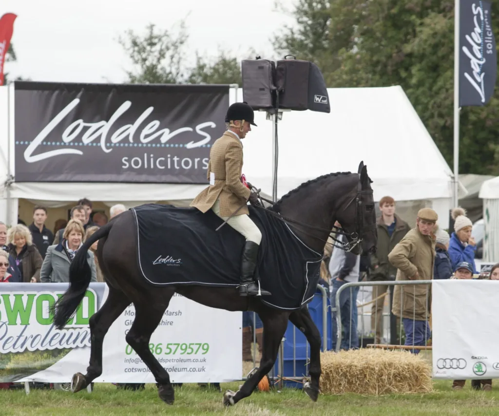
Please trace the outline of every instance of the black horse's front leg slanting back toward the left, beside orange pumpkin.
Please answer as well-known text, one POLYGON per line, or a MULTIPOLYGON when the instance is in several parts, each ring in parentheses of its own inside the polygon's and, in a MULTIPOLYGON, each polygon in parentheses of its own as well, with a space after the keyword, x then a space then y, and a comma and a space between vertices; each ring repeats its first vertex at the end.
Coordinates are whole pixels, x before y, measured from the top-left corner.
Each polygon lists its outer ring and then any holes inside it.
POLYGON ((265 309, 258 311, 263 323, 263 348, 260 367, 236 393, 228 390, 224 394, 224 405, 231 406, 250 396, 260 380, 272 369, 284 332, 286 332, 289 312, 265 309))

